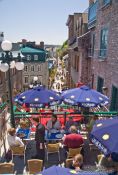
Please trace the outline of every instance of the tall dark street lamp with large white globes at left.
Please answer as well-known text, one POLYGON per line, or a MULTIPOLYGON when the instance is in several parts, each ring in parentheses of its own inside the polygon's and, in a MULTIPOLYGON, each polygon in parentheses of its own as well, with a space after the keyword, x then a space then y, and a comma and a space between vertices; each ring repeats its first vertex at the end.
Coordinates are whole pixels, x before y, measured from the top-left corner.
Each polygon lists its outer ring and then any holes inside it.
POLYGON ((12 56, 12 43, 10 41, 4 40, 1 44, 1 48, 4 51, 2 53, 2 57, 0 58, 0 70, 2 72, 8 71, 8 89, 9 89, 9 103, 10 103, 10 121, 12 127, 15 127, 15 118, 14 118, 14 111, 13 111, 13 102, 12 102, 12 84, 11 84, 11 72, 10 68, 16 68, 17 70, 24 69, 24 63, 21 62, 20 53, 18 54, 17 58, 13 58, 12 56), (14 60, 13 60, 14 59, 14 60), (15 59, 17 62, 15 62, 15 59))

